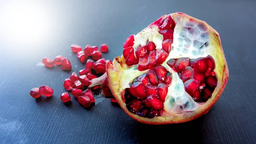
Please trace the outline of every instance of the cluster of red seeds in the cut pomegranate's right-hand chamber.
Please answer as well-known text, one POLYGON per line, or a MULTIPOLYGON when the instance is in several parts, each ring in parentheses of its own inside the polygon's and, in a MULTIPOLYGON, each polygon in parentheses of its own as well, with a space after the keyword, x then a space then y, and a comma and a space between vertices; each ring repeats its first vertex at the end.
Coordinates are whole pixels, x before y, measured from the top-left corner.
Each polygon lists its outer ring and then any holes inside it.
POLYGON ((208 55, 206 58, 170 59, 167 64, 173 68, 184 82, 185 91, 196 102, 205 102, 217 86, 215 61, 208 55))

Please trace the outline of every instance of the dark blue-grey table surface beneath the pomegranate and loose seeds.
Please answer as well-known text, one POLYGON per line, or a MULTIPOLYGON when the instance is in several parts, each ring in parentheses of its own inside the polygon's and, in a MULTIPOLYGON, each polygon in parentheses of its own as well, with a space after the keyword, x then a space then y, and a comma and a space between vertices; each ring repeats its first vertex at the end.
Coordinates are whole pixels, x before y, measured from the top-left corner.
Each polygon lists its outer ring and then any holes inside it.
POLYGON ((256 1, 73 0, 0 1, 0 143, 256 143, 256 1), (70 45, 107 43, 113 59, 128 35, 163 14, 184 12, 206 21, 221 36, 230 79, 214 107, 194 121, 146 125, 109 99, 84 109, 59 99, 70 72, 38 66, 64 55, 84 68, 70 45), (35 100, 32 87, 49 85, 52 98, 35 100))

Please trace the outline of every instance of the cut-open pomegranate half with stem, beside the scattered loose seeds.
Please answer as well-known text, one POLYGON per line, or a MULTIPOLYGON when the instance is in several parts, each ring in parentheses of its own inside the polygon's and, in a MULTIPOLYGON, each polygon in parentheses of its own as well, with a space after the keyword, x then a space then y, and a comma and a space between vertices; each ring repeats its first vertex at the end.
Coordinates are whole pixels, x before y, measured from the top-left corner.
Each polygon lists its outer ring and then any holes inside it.
POLYGON ((131 117, 175 124, 204 115, 228 80, 218 32, 184 13, 163 15, 123 45, 123 55, 88 86, 100 86, 131 117))

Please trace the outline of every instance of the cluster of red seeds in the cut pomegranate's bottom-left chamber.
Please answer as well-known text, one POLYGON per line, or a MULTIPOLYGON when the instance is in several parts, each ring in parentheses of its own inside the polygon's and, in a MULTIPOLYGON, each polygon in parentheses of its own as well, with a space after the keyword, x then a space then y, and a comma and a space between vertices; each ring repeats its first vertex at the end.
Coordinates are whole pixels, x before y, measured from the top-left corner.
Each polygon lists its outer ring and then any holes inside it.
POLYGON ((171 83, 172 74, 164 66, 148 70, 129 84, 131 88, 126 89, 126 107, 142 117, 160 116, 171 83))

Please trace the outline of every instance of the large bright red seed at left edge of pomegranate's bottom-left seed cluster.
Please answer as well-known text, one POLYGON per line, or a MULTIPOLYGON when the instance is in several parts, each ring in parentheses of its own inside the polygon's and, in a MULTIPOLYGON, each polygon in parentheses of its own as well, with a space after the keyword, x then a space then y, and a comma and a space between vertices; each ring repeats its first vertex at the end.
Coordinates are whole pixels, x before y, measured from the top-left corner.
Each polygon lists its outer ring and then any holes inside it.
POLYGON ((136 98, 143 99, 146 97, 145 86, 142 82, 135 82, 131 84, 131 88, 129 89, 131 95, 136 98))

